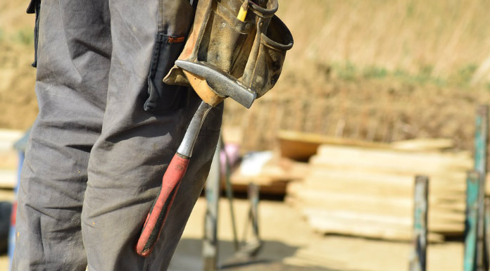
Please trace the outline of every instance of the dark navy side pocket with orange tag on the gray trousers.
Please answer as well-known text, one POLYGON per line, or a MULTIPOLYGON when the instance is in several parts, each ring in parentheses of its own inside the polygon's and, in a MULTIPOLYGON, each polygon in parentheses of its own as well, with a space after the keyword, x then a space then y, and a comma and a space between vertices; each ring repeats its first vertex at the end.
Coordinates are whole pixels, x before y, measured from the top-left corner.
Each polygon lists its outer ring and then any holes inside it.
POLYGON ((184 106, 185 87, 162 81, 182 51, 184 41, 184 35, 158 33, 148 75, 149 97, 144 103, 145 111, 173 111, 184 106))

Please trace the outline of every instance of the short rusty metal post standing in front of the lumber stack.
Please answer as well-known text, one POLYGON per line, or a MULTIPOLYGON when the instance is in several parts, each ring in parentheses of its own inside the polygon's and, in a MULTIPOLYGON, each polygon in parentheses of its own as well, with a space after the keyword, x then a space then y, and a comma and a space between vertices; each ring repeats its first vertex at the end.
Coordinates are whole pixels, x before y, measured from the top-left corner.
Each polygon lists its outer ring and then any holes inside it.
POLYGON ((413 244, 410 255, 410 271, 425 271, 427 263, 427 210, 429 196, 429 178, 415 177, 413 208, 413 244))

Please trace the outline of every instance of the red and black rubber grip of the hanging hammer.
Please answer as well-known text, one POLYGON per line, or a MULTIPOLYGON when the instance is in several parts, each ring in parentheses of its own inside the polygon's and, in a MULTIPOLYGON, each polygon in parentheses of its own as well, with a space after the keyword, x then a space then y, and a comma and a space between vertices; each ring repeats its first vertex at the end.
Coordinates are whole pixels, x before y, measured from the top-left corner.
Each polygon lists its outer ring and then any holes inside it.
POLYGON ((170 161, 162 178, 161 190, 151 206, 136 245, 136 253, 139 255, 147 257, 153 250, 188 165, 189 157, 179 153, 175 153, 170 161))

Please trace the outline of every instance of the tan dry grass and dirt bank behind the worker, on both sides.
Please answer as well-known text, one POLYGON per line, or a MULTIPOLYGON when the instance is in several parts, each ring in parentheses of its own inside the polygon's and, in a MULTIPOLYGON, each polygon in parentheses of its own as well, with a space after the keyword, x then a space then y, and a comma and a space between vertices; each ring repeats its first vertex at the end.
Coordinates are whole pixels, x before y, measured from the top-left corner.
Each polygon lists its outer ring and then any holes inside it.
MULTIPOLYGON (((0 127, 25 129, 37 113, 27 1, 0 0, 0 127)), ((490 3, 279 0, 295 45, 275 89, 225 125, 244 149, 277 130, 393 141, 448 137, 472 146, 478 103, 490 101, 490 3), (251 129, 253 128, 253 129, 251 129), (256 131, 260 132, 257 133, 256 131)))

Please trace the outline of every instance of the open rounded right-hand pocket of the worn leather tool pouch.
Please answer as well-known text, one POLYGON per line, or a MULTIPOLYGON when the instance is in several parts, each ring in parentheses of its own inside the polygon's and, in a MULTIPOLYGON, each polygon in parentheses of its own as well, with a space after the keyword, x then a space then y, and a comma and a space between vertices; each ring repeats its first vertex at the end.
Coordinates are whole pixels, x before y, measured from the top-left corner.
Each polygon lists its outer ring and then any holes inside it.
POLYGON ((286 51, 293 46, 293 36, 282 20, 273 16, 266 34, 261 34, 257 62, 251 72, 251 89, 257 98, 274 87, 282 71, 286 51))

